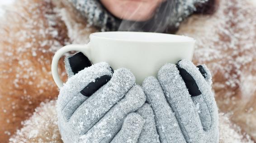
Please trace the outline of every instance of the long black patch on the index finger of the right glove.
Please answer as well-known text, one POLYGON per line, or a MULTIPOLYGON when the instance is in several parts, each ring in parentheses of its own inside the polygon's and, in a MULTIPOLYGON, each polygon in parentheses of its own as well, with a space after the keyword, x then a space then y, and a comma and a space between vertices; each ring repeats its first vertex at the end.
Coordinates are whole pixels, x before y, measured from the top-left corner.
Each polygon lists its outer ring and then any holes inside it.
POLYGON ((180 68, 179 62, 176 64, 178 70, 180 71, 180 76, 184 80, 186 87, 192 97, 199 96, 202 93, 200 92, 197 84, 195 83, 194 78, 183 68, 180 68))

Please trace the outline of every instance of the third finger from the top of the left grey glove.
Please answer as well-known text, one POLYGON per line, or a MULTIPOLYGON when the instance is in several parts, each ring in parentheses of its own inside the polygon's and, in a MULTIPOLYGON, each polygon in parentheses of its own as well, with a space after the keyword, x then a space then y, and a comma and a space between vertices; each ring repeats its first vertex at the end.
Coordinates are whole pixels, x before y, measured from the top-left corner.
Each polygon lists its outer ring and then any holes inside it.
POLYGON ((127 95, 111 108, 85 135, 84 143, 108 143, 118 133, 128 113, 136 111, 146 101, 145 94, 139 86, 134 86, 127 95))

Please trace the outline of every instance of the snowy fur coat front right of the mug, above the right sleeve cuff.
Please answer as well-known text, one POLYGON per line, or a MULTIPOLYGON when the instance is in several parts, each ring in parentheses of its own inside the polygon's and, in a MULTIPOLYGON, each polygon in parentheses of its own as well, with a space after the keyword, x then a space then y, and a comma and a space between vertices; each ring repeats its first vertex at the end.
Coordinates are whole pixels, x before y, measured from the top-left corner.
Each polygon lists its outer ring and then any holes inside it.
POLYGON ((256 140, 256 5, 251 0, 219 0, 213 15, 194 15, 178 34, 197 43, 194 63, 213 74, 218 107, 256 140))

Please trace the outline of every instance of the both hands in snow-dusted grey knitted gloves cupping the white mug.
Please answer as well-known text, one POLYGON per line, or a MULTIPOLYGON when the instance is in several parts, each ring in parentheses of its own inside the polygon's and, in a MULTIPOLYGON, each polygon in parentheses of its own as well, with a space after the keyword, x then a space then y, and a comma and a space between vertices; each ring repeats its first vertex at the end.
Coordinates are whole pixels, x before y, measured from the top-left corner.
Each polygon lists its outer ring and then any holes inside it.
POLYGON ((218 143, 218 110, 206 66, 166 64, 142 88, 128 69, 67 57, 57 101, 64 143, 218 143), (77 60, 77 59, 76 59, 77 60), (78 70, 82 69, 78 72, 78 70), (146 103, 145 103, 146 101, 146 103))

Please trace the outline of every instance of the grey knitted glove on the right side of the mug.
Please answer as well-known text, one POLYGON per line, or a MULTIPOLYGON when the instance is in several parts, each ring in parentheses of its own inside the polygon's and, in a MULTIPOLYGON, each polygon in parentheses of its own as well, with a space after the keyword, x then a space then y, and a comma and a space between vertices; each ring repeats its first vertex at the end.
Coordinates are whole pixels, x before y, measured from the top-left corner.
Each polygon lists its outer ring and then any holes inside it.
POLYGON ((187 60, 177 67, 166 64, 158 73, 159 82, 149 77, 142 83, 161 143, 218 143, 218 109, 209 70, 187 60))

